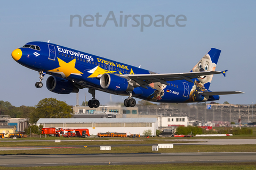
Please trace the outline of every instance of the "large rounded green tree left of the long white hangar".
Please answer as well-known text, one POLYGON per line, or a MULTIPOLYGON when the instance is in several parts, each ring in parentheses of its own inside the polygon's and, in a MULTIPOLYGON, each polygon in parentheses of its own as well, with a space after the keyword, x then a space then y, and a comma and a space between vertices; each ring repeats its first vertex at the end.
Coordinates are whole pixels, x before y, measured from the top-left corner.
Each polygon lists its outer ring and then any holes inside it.
POLYGON ((71 106, 65 101, 55 98, 44 98, 35 105, 35 110, 30 114, 29 122, 34 124, 39 118, 69 118, 72 117, 71 106))

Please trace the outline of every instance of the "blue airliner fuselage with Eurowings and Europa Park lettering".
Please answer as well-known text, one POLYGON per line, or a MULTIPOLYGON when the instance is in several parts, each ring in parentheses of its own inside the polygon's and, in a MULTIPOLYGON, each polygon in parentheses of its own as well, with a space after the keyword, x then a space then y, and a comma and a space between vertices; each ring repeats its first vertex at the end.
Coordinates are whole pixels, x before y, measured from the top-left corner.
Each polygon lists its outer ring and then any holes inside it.
MULTIPOLYGON (((128 95, 126 91, 113 91, 102 88, 99 75, 104 73, 153 74, 153 72, 140 69, 139 67, 51 43, 35 41, 26 45, 27 48, 19 48, 22 51, 22 56, 17 60, 19 64, 29 69, 43 71, 54 77, 76 83, 80 89, 89 88, 115 95, 128 95), (34 45, 35 49, 29 48, 28 45, 34 45)), ((147 89, 135 87, 132 91, 132 96, 162 103, 219 100, 219 96, 208 96, 205 98, 205 96, 199 94, 196 98, 191 99, 191 89, 195 86, 194 81, 195 79, 193 79, 193 82, 186 80, 167 81, 168 85, 165 87, 158 86, 154 88, 154 84, 151 84, 147 89)))

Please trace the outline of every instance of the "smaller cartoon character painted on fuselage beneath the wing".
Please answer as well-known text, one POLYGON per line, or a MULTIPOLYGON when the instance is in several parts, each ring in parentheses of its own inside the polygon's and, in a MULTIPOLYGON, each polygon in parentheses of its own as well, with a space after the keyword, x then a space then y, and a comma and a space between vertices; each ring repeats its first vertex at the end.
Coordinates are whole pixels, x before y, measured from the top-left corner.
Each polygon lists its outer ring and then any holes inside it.
POLYGON ((150 101, 159 101, 159 100, 161 100, 162 97, 164 96, 164 89, 166 88, 166 85, 162 84, 160 82, 156 82, 156 83, 149 84, 149 86, 153 89, 156 89, 156 90, 153 92, 153 94, 149 95, 147 97, 147 99, 150 100, 150 101))

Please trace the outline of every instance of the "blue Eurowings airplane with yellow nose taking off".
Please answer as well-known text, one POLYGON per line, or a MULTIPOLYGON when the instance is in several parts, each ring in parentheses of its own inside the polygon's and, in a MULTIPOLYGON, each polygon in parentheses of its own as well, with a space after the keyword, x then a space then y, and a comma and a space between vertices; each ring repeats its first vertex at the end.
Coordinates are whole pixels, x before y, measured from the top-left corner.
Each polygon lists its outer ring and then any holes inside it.
MULTIPOLYGON (((50 41, 50 40, 49 40, 50 41)), ((12 52, 12 58, 29 69, 38 71, 42 88, 44 75, 46 88, 57 94, 70 94, 88 88, 92 99, 90 108, 97 108, 95 90, 109 94, 129 96, 124 106, 134 107, 139 98, 159 103, 194 103, 219 100, 219 95, 242 94, 241 91, 210 91, 210 83, 221 50, 211 48, 203 58, 185 73, 159 74, 107 58, 84 53, 57 44, 40 41, 29 42, 12 52), (134 97, 134 98, 133 98, 134 97)))

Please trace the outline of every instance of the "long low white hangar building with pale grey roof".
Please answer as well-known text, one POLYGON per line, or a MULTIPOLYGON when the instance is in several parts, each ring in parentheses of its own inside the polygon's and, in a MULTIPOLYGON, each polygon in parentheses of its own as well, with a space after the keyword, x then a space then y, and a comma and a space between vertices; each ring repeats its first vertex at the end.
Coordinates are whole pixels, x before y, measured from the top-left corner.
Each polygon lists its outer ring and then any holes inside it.
POLYGON ((89 133, 97 135, 99 132, 119 132, 130 134, 143 134, 151 130, 156 135, 158 129, 157 118, 39 118, 37 126, 44 128, 87 128, 89 133))

